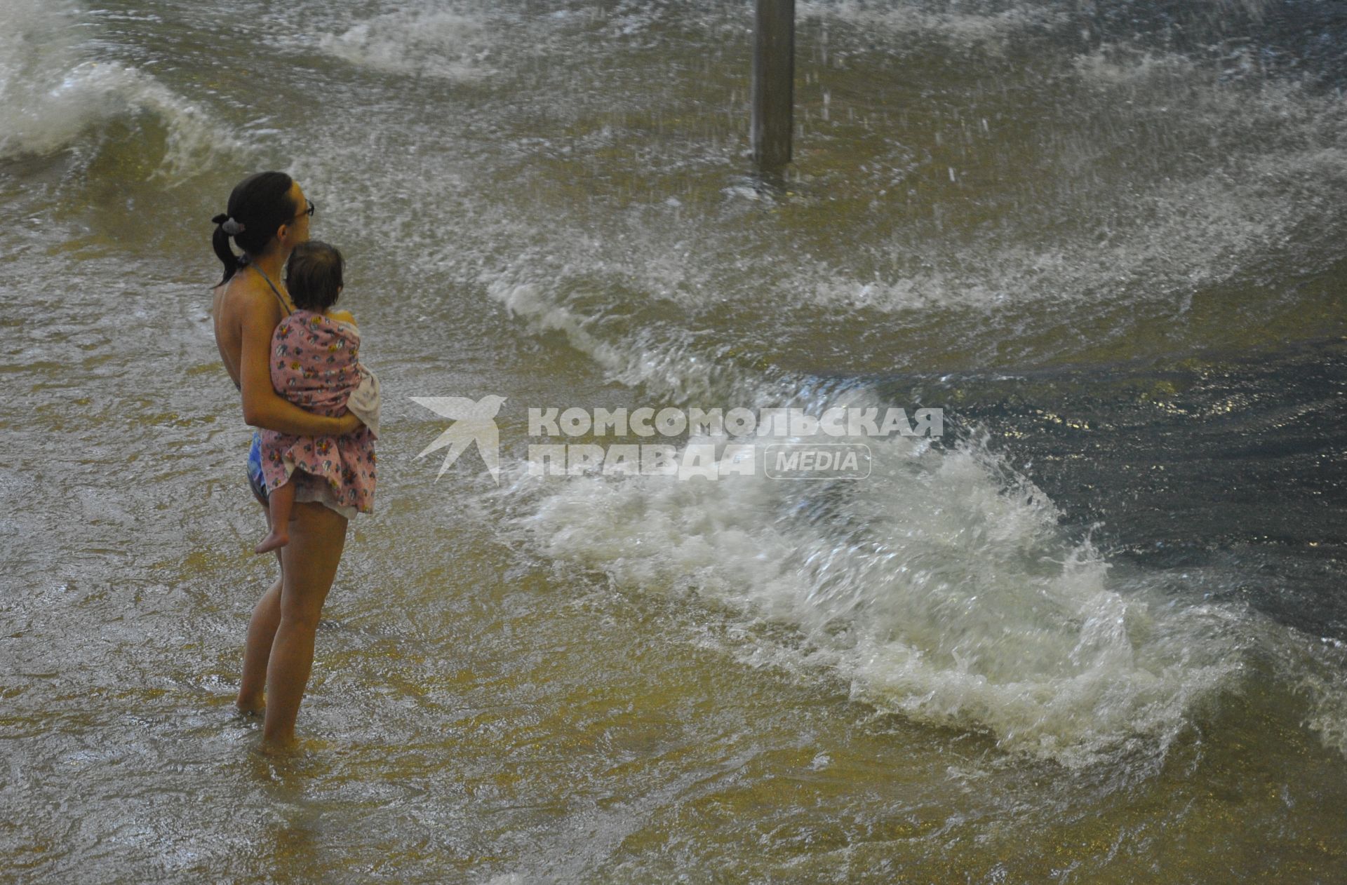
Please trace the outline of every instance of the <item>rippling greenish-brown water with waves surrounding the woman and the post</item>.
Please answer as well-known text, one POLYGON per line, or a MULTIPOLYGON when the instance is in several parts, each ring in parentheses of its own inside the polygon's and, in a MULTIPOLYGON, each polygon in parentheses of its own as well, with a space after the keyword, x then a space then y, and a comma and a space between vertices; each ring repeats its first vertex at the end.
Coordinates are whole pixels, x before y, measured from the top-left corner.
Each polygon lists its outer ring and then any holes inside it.
POLYGON ((19 881, 1237 881, 1347 869, 1347 19, 9 3, 19 881), (384 381, 306 735, 210 216, 318 203, 384 381), (501 484, 412 396, 506 396, 501 484), (857 484, 527 476, 527 407, 939 405, 857 484))

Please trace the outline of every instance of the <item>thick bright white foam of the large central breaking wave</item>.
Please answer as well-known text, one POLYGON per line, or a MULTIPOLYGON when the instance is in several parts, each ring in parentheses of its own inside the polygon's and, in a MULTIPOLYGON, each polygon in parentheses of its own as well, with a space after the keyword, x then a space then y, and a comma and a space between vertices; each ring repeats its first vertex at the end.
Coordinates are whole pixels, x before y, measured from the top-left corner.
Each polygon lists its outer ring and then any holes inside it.
POLYGON ((985 449, 873 445, 876 474, 845 488, 572 477, 511 493, 541 490, 521 525, 559 560, 692 589, 806 640, 758 637, 745 663, 823 665, 857 698, 1009 750, 1162 756, 1241 671, 1238 613, 1110 587, 1107 563, 1059 536, 1041 492, 1004 486, 985 449))

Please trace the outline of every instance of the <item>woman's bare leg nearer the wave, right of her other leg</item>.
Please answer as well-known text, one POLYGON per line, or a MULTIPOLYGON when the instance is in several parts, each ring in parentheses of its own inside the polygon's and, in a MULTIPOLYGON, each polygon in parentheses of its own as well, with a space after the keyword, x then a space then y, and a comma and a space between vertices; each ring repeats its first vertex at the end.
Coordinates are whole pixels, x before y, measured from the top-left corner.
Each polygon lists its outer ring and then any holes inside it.
POLYGON ((284 564, 280 624, 267 664, 267 721, 263 742, 286 746, 295 740, 295 718, 314 663, 314 634, 327 591, 346 544, 346 517, 314 502, 295 504, 284 564))

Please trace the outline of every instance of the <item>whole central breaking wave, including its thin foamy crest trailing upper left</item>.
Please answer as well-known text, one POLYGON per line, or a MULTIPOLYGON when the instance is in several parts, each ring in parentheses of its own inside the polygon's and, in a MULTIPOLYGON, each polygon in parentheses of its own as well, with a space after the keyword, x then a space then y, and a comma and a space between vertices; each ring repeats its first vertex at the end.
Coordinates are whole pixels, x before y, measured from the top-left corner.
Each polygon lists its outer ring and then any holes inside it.
MULTIPOLYGON (((735 365, 684 329, 614 334, 605 308, 586 311, 563 286, 501 276, 488 291, 535 333, 566 335, 643 404, 908 405, 861 379, 735 365)), ((723 455, 727 440, 688 442, 723 455)), ((1303 695, 1304 727, 1347 753, 1347 655, 1203 591, 1235 577, 1118 572, 1060 528, 1055 504, 977 430, 954 445, 853 442, 874 453, 865 481, 550 480, 515 463, 501 494, 527 542, 555 560, 788 628, 784 638, 741 630, 730 652, 742 663, 822 668, 857 700, 987 733, 1012 754, 1068 768, 1126 757, 1156 771, 1265 660, 1274 684, 1303 695)))

